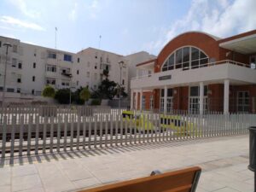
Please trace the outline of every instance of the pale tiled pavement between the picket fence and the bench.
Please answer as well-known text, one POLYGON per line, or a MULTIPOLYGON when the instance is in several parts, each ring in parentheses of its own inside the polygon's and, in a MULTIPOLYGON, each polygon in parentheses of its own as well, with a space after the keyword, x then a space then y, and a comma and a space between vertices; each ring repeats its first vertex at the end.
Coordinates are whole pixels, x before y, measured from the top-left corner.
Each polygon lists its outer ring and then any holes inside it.
POLYGON ((248 137, 220 137, 1 160, 0 191, 75 191, 102 183, 201 166, 197 192, 252 192, 248 137))

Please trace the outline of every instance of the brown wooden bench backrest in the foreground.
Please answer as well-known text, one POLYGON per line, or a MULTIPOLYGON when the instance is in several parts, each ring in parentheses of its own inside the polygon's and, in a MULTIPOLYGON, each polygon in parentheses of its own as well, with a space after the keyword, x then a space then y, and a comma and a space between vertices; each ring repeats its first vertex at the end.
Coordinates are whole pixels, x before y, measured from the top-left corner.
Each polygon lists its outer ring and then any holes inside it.
POLYGON ((80 192, 195 192, 200 174, 201 168, 195 166, 80 192))

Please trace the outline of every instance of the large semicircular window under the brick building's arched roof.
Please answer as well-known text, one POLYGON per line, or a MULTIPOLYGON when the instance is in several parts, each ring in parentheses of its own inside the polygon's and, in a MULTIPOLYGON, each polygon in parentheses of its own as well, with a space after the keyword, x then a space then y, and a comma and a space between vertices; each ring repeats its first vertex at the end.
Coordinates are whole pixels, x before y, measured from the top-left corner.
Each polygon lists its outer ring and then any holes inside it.
POLYGON ((205 64, 208 62, 209 57, 201 49, 187 46, 172 52, 163 65, 162 72, 176 68, 187 70, 190 68, 206 67, 205 64))

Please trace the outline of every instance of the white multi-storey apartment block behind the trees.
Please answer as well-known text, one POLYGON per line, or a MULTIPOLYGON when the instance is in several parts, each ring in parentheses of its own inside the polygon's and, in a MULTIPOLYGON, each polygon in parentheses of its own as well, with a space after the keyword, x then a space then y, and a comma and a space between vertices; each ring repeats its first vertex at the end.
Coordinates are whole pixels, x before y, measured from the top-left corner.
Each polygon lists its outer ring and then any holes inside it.
POLYGON ((12 45, 7 56, 6 102, 44 100, 41 93, 46 84, 56 90, 76 90, 80 86, 96 90, 106 78, 106 72, 108 79, 122 84, 128 92, 129 65, 131 62, 138 63, 137 59, 129 61, 124 55, 102 49, 87 48, 71 53, 0 36, 0 101, 6 61, 5 43, 12 45), (119 61, 124 63, 120 66, 119 61))

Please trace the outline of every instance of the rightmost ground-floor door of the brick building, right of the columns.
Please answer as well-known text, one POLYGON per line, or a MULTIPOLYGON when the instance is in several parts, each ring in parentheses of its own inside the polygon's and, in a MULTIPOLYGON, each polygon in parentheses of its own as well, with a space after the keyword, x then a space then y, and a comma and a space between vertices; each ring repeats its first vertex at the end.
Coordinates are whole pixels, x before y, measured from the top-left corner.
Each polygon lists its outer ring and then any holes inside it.
POLYGON ((249 112, 249 92, 248 91, 237 92, 237 112, 240 112, 240 113, 249 112))

